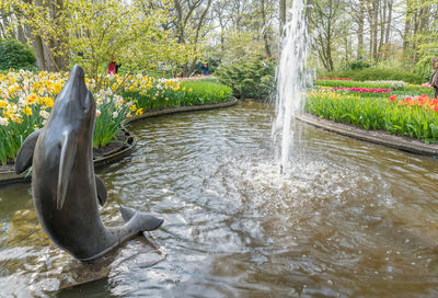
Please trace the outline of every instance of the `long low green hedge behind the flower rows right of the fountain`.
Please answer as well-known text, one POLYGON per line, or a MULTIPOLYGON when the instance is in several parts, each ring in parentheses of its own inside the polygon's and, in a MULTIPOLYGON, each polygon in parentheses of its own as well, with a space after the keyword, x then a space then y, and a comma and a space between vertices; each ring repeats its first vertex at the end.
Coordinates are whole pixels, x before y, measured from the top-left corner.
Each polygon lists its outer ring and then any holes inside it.
POLYGON ((334 72, 320 72, 319 77, 350 78, 356 81, 394 80, 394 81, 404 81, 417 84, 425 82, 422 76, 414 72, 400 71, 395 69, 377 69, 377 68, 367 68, 361 70, 343 70, 334 72))

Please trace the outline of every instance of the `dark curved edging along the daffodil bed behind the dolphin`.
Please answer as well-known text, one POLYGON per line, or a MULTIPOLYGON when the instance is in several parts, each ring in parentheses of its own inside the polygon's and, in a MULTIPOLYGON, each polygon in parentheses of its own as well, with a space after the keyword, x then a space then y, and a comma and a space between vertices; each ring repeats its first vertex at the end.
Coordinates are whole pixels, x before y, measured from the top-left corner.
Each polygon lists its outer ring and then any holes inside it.
MULTIPOLYGON (((201 111, 201 110, 211 110, 211 108, 219 108, 219 107, 227 107, 238 103, 237 99, 232 99, 230 101, 217 103, 217 104, 205 104, 205 105, 187 105, 187 106, 172 106, 165 108, 158 108, 146 112, 139 116, 135 116, 129 118, 125 122, 125 124, 129 124, 132 122, 137 122, 147 117, 166 115, 166 114, 174 114, 174 113, 182 113, 182 112, 193 112, 193 111, 201 111)), ((124 134, 128 134, 128 146, 124 146, 122 150, 116 150, 114 152, 108 152, 106 156, 96 158, 93 160, 94 168, 100 168, 105 164, 113 163, 122 158, 128 156, 137 145, 137 137, 127 129, 123 130, 124 134)), ((0 185, 16 183, 16 182, 26 182, 31 181, 31 175, 27 173, 23 173, 21 175, 16 175, 14 170, 11 167, 11 170, 0 171, 0 185)))

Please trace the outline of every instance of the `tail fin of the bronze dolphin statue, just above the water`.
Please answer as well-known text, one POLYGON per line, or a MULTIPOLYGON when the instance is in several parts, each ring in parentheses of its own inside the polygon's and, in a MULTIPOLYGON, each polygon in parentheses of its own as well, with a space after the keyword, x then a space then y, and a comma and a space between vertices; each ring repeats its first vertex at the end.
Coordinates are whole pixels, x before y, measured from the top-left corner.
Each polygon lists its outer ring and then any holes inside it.
POLYGON ((141 231, 152 231, 163 225, 164 219, 154 217, 153 215, 136 211, 135 209, 120 206, 120 214, 125 222, 131 228, 141 231))

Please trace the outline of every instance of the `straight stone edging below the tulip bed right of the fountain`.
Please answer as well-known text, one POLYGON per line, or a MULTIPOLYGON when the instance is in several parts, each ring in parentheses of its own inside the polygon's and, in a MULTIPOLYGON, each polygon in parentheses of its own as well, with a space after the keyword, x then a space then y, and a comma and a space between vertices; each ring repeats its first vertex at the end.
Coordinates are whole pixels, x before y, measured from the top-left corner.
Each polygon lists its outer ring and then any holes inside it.
POLYGON ((425 144, 417 139, 389 135, 384 130, 366 130, 351 125, 336 123, 330 119, 321 118, 311 114, 300 114, 296 118, 303 123, 311 124, 319 128, 336 133, 343 136, 365 140, 399 150, 438 158, 438 145, 425 144))

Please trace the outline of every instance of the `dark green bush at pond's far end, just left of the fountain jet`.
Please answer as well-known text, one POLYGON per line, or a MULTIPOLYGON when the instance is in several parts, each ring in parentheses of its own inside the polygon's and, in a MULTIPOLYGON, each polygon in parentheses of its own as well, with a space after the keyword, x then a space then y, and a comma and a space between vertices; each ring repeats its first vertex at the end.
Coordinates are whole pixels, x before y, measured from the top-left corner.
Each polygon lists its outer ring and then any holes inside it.
POLYGON ((275 60, 257 56, 221 66, 216 76, 241 99, 268 100, 275 87, 275 60))

